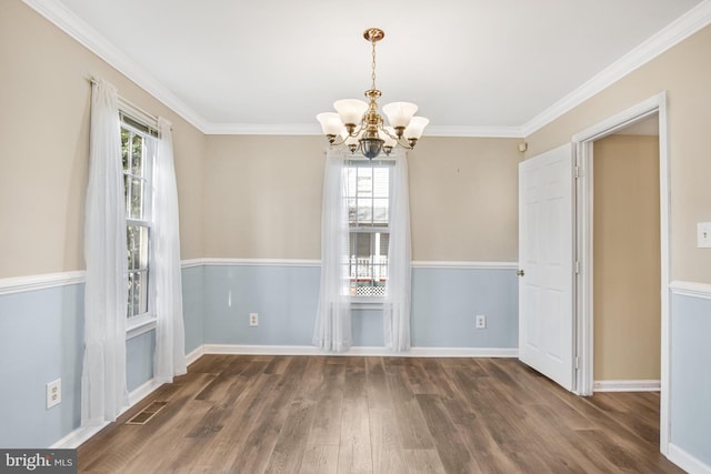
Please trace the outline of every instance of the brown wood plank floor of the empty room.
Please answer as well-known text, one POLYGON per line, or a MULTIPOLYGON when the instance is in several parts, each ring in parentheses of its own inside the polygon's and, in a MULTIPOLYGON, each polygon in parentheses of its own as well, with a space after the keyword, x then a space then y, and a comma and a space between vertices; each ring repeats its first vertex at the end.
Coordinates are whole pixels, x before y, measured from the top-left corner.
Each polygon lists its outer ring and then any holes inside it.
POLYGON ((512 359, 204 355, 78 456, 84 473, 682 472, 658 438, 658 394, 579 397, 512 359))

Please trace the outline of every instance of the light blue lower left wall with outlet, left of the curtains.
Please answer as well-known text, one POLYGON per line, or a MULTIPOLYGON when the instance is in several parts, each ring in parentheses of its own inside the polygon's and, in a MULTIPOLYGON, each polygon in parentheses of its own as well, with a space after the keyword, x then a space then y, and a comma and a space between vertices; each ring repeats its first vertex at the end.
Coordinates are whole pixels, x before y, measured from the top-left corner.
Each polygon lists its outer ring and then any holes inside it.
POLYGON ((79 426, 83 284, 0 295, 0 446, 51 445, 79 426), (46 384, 61 379, 61 404, 46 384))

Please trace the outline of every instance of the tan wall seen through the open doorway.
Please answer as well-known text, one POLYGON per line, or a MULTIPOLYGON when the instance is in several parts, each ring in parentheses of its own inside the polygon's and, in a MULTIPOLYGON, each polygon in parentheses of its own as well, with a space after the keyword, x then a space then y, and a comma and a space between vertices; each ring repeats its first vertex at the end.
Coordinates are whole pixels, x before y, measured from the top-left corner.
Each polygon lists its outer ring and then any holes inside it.
POLYGON ((594 380, 659 380, 659 139, 594 143, 594 380))

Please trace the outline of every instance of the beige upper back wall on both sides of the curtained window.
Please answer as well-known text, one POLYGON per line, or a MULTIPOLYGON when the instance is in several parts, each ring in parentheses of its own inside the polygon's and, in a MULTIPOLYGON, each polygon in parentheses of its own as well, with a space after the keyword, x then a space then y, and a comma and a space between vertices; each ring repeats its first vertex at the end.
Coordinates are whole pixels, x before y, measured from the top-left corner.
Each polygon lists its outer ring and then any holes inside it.
MULTIPOLYGON (((519 140, 424 138, 410 152, 412 258, 518 255, 519 140)), ((208 137, 206 256, 320 259, 326 140, 208 137)))

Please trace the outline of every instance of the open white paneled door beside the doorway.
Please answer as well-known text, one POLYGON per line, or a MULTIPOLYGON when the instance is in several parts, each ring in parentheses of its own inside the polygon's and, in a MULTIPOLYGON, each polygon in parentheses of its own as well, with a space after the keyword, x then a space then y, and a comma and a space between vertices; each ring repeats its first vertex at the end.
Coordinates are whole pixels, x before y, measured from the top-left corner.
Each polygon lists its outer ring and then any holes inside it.
POLYGON ((519 359, 573 390, 573 153, 519 164, 519 359))

